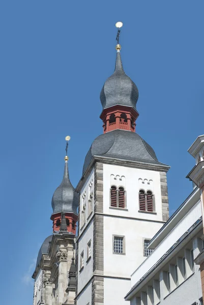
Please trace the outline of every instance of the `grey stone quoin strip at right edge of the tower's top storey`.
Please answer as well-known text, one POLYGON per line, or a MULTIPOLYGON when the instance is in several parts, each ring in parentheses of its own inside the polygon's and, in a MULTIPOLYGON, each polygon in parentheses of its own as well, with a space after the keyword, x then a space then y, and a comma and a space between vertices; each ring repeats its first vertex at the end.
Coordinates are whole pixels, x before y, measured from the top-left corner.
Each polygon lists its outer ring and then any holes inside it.
POLYGON ((166 172, 160 172, 160 184, 161 184, 162 220, 167 221, 169 219, 169 207, 168 207, 168 189, 167 189, 166 172))

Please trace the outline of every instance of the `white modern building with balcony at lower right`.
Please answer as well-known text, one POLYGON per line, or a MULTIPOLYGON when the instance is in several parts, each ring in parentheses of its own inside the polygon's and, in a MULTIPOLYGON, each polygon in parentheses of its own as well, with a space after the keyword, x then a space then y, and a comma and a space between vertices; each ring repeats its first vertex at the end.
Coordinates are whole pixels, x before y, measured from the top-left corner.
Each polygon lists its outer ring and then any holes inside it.
POLYGON ((200 271, 193 261, 203 246, 198 198, 196 189, 153 238, 150 246, 158 245, 131 276, 126 295, 131 305, 201 304, 200 271))

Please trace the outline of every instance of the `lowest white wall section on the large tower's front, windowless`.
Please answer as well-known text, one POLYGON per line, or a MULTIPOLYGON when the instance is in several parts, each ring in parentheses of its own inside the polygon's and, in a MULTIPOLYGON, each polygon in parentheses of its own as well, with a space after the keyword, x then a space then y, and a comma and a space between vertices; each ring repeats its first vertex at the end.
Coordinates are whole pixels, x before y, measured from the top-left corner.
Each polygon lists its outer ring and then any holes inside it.
POLYGON ((129 305, 124 296, 130 290, 131 285, 128 280, 104 279, 104 304, 108 305, 129 305))

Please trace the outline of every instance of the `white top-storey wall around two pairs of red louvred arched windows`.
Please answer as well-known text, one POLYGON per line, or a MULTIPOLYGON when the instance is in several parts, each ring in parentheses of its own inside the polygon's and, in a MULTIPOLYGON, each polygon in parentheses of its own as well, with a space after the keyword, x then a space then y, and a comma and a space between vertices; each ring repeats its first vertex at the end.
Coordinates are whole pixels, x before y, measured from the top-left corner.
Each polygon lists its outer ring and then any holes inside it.
POLYGON ((161 185, 160 173, 153 170, 130 168, 118 165, 103 165, 103 212, 104 214, 135 217, 140 219, 149 219, 162 221, 162 202, 161 202, 161 185), (112 175, 112 176, 111 176, 112 175), (118 177, 114 180, 113 175, 118 177), (113 182, 112 182, 113 181, 113 182), (144 182, 144 183, 142 183, 144 182), (148 184, 148 182, 150 184, 148 184), (127 197, 127 211, 121 209, 109 208, 110 205, 110 186, 124 186, 127 197), (153 191, 155 197, 156 215, 151 213, 138 212, 140 189, 153 191))

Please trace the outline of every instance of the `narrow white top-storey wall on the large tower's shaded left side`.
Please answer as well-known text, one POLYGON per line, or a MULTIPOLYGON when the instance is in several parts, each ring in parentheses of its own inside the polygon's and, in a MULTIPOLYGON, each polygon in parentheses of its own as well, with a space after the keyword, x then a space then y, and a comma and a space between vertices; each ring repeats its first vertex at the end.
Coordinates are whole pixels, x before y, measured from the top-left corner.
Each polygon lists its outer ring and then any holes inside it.
MULTIPOLYGON (((80 193, 80 228, 81 228, 81 211, 82 211, 82 208, 83 208, 83 204, 85 203, 85 224, 88 222, 88 218, 89 218, 89 215, 88 215, 88 200, 89 200, 89 197, 90 197, 90 183, 92 182, 92 190, 93 190, 93 203, 94 203, 94 168, 92 170, 92 172, 90 173, 89 177, 86 179, 86 182, 83 186, 83 188, 81 189, 81 193, 80 193), (83 196, 85 194, 85 199, 83 200, 83 196)), ((94 204, 93 204, 94 206, 94 204)), ((92 207, 93 207, 92 206, 92 207)), ((92 208, 93 210, 93 208, 92 208)), ((83 228, 85 227, 85 225, 83 226, 83 228)), ((83 229, 81 230, 81 232, 83 231, 83 229)), ((80 232, 80 233, 81 233, 80 232)))

